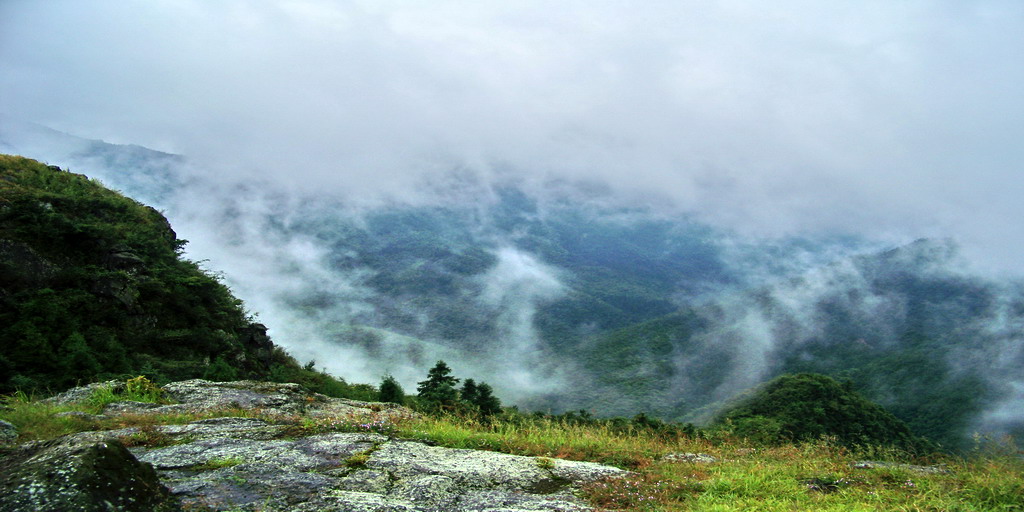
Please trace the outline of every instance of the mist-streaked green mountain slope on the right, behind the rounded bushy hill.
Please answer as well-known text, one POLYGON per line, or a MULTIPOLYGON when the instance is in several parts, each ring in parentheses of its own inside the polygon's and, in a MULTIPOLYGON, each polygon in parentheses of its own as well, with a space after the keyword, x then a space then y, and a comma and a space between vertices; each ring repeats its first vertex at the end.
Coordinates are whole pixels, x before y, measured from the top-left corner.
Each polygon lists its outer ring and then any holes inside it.
MULTIPOLYGON (((1002 326, 1020 322, 1024 296, 954 271, 954 254, 948 243, 919 241, 615 331, 589 368, 620 394, 595 399, 701 422, 741 386, 824 373, 914 432, 962 445, 1013 396, 1019 332, 1002 326)), ((1020 432, 1021 423, 1002 427, 1020 432)))

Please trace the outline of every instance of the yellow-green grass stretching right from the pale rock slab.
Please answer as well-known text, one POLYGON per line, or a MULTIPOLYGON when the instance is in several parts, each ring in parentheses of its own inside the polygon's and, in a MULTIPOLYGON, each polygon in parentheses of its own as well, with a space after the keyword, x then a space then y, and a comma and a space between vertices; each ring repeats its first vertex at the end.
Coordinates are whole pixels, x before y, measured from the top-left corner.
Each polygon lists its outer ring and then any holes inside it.
POLYGON ((993 443, 994 450, 963 458, 938 455, 922 460, 893 449, 848 449, 828 439, 754 446, 728 437, 665 437, 643 429, 623 432, 535 418, 484 424, 428 417, 399 422, 396 431, 452 447, 593 461, 632 470, 630 477, 585 488, 584 496, 600 509, 1024 510, 1024 458, 1012 442, 993 443), (678 452, 709 454, 719 462, 662 461, 678 452), (942 463, 949 472, 854 468, 852 463, 860 460, 942 463))

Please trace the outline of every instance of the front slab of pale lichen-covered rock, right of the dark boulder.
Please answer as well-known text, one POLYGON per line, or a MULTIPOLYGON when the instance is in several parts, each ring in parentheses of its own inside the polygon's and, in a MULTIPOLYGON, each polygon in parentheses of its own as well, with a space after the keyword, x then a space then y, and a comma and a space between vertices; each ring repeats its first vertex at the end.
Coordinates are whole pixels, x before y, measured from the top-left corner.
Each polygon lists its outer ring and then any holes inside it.
POLYGON ((373 432, 291 437, 287 428, 244 418, 159 433, 172 444, 132 450, 185 507, 578 511, 589 510, 572 494, 579 485, 624 474, 599 464, 446 449, 373 432))

